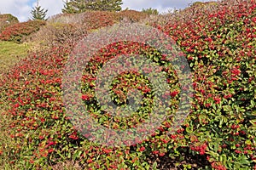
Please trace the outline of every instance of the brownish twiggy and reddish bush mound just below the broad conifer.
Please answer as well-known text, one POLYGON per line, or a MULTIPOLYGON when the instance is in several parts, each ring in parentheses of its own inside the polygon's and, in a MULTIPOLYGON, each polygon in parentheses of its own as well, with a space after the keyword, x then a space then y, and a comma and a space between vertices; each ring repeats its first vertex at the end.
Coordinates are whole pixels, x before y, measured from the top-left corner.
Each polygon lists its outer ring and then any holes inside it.
POLYGON ((81 14, 57 14, 49 19, 46 26, 32 34, 32 41, 43 42, 47 45, 56 43, 76 42, 77 38, 85 36, 88 32, 113 24, 124 19, 133 22, 143 20, 148 14, 127 10, 120 13, 89 11, 81 14))

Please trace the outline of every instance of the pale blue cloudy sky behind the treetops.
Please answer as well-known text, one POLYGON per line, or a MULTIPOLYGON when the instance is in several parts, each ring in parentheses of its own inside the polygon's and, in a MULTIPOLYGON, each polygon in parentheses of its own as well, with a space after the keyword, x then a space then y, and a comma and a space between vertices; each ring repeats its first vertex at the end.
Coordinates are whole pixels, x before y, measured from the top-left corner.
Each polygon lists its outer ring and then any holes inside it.
MULTIPOLYGON (((167 12, 173 8, 186 8, 189 3, 207 2, 209 0, 123 0, 122 8, 142 10, 143 8, 156 8, 160 12, 167 12)), ((63 0, 40 0, 40 6, 48 9, 48 17, 60 14, 63 8, 63 0)), ((13 14, 20 20, 26 21, 31 18, 32 7, 36 0, 0 0, 0 14, 13 14)))

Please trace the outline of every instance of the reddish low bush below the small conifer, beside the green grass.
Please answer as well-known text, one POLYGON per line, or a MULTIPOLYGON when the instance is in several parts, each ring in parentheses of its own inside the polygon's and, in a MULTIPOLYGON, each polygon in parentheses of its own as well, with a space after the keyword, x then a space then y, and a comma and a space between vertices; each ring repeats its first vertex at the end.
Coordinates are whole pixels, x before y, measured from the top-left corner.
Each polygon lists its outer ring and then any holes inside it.
POLYGON ((32 32, 38 31, 41 26, 45 25, 45 21, 29 20, 20 22, 11 26, 7 26, 0 33, 0 40, 21 42, 23 37, 26 37, 32 32))

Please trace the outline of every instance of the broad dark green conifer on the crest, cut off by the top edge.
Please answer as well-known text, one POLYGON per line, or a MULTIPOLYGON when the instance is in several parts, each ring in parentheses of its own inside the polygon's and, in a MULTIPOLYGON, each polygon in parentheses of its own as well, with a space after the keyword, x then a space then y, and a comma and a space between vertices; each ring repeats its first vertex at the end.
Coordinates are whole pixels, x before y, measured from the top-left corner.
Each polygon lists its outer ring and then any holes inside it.
POLYGON ((122 0, 69 0, 64 2, 62 13, 76 14, 90 10, 120 11, 122 0))

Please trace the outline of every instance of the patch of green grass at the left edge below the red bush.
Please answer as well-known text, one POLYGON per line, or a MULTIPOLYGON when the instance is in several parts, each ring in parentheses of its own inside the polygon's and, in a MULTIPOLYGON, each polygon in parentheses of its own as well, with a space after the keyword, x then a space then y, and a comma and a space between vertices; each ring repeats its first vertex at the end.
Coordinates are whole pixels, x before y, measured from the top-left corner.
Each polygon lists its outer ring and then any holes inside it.
POLYGON ((0 70, 8 71, 20 59, 26 57, 30 44, 0 41, 0 70))

